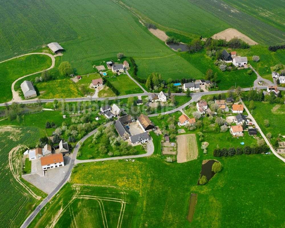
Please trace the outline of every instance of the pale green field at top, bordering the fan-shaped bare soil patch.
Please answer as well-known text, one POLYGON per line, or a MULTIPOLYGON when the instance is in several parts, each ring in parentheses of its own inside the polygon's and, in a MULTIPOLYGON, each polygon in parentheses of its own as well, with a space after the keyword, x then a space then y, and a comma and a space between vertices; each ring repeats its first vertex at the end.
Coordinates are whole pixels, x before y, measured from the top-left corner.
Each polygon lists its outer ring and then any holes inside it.
POLYGON ((128 0, 123 2, 139 11, 146 21, 161 25, 164 31, 182 31, 199 37, 201 35, 209 37, 229 28, 229 25, 222 19, 186 0, 169 2, 128 0))

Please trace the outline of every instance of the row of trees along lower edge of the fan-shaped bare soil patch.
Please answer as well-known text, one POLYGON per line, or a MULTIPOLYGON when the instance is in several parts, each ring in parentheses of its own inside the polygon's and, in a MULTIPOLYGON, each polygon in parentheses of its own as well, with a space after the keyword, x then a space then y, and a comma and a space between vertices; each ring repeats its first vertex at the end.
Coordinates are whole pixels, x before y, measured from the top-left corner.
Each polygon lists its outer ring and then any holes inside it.
POLYGON ((217 50, 218 47, 229 47, 229 48, 240 48, 246 49, 249 48, 249 44, 245 41, 239 39, 238 37, 234 37, 233 39, 227 41, 226 39, 212 39, 208 38, 205 41, 205 46, 208 47, 210 50, 217 50))

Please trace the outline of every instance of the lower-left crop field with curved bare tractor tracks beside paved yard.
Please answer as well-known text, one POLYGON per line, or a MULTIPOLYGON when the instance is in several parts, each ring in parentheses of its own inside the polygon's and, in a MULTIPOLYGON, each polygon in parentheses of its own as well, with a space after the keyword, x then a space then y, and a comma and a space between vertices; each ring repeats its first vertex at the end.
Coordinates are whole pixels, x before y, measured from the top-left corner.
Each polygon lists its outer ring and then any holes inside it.
POLYGON ((1 126, 0 131, 0 227, 20 227, 34 205, 38 205, 46 195, 21 178, 21 156, 18 150, 11 153, 11 160, 8 159, 9 152, 20 145, 35 146, 34 139, 39 137, 40 132, 35 127, 18 126, 1 126), (9 166, 10 162, 13 170, 9 166), (35 198, 37 196, 38 199, 35 198))

